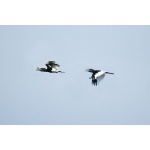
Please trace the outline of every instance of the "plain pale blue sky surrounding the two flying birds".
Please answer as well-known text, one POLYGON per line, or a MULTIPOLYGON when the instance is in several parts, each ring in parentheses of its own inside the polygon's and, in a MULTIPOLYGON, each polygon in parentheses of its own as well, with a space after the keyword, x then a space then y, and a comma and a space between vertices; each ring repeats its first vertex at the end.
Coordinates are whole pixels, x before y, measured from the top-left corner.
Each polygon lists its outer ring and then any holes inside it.
POLYGON ((0 26, 0 52, 0 124, 150 124, 150 26, 0 26))

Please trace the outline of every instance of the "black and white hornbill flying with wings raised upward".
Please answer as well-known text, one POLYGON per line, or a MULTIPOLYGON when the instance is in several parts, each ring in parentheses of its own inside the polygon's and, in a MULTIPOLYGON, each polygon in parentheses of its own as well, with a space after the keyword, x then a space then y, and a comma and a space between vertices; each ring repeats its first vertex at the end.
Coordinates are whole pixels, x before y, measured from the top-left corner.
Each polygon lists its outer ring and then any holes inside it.
POLYGON ((64 73, 64 72, 58 70, 60 65, 56 64, 55 61, 48 61, 45 65, 47 66, 47 68, 37 67, 36 71, 49 72, 49 73, 59 73, 59 72, 64 73))

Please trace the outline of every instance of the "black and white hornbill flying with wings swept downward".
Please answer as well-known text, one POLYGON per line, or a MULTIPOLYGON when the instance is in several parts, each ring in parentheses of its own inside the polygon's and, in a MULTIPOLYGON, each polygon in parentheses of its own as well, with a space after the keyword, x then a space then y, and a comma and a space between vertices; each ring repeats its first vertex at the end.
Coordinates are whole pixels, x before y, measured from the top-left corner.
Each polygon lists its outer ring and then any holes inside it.
POLYGON ((94 86, 95 85, 97 86, 98 82, 100 82, 105 77, 105 74, 114 74, 103 70, 94 70, 94 69, 87 69, 85 71, 92 73, 92 76, 89 79, 92 79, 92 84, 94 86))

